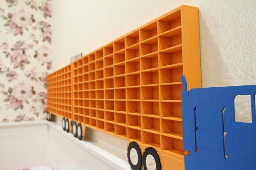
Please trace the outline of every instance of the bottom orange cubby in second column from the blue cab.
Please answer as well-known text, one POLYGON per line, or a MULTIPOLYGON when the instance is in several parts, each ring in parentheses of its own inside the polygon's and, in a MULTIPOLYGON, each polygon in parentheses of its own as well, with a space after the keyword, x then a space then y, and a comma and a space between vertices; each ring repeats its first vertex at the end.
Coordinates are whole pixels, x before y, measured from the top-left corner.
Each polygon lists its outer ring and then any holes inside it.
POLYGON ((160 135, 142 131, 142 143, 160 148, 160 135))

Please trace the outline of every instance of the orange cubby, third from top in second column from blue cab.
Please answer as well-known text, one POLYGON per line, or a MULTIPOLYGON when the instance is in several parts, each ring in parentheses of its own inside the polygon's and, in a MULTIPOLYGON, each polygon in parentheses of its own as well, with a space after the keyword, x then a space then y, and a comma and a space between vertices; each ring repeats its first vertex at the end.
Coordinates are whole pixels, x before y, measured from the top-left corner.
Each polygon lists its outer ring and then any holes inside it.
POLYGON ((152 68, 158 68, 158 54, 151 55, 150 57, 141 58, 141 70, 148 70, 152 68))

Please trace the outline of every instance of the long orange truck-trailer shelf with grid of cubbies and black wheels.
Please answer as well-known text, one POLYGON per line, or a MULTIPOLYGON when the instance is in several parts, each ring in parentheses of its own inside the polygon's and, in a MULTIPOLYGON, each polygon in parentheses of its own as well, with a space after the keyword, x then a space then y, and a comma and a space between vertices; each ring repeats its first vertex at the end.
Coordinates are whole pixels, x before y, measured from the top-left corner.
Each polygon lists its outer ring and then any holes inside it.
POLYGON ((50 74, 48 111, 79 139, 90 127, 128 140, 132 169, 184 169, 181 75, 201 87, 198 9, 186 5, 50 74))

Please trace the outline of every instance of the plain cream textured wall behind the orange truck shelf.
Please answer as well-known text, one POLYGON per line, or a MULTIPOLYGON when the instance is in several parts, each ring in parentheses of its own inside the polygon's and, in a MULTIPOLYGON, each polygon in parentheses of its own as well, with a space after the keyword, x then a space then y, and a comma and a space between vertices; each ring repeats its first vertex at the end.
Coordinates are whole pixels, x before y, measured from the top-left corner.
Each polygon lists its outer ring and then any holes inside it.
POLYGON ((53 0, 53 70, 181 4, 199 8, 202 86, 255 85, 255 0, 53 0))

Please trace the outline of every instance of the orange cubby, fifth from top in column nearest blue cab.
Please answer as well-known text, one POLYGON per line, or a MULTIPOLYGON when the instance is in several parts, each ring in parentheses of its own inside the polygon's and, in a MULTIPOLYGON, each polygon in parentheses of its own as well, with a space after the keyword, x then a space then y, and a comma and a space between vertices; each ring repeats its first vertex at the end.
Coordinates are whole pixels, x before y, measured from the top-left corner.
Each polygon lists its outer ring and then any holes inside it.
POLYGON ((182 85, 160 85, 161 100, 181 100, 182 85))

